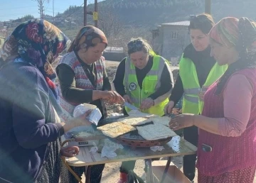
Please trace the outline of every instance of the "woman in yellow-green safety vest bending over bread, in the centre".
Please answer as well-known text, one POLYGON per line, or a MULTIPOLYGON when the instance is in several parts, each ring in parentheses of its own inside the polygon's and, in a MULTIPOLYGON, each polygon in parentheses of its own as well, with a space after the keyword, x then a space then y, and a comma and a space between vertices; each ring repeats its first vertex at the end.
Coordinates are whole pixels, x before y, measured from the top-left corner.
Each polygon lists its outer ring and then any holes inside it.
MULTIPOLYGON (((114 88, 142 112, 164 116, 174 83, 169 63, 142 38, 132 39, 127 47, 129 56, 117 67, 114 88)), ((127 112, 125 108, 124 114, 127 112)), ((135 161, 122 162, 119 183, 127 182, 127 173, 134 165, 135 161)))

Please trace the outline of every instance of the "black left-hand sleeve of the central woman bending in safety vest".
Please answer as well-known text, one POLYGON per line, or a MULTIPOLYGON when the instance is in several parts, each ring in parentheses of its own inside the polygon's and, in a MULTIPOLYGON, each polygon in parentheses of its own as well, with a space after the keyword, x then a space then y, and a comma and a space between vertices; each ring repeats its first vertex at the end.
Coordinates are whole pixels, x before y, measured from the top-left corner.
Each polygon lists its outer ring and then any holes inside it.
POLYGON ((124 72, 125 72, 125 60, 124 58, 117 67, 117 72, 114 77, 114 88, 117 91, 117 93, 121 96, 124 96, 125 89, 124 89, 124 72))

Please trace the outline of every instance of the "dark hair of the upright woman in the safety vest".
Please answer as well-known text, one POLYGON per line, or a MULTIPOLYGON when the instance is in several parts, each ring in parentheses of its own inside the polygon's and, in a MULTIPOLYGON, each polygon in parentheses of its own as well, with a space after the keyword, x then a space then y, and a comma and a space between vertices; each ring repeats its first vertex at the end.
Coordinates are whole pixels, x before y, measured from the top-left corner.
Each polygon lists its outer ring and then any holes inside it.
POLYGON ((190 17, 190 24, 188 26, 188 30, 191 29, 199 29, 203 33, 208 34, 210 29, 215 25, 213 21, 213 16, 203 13, 196 16, 190 17))

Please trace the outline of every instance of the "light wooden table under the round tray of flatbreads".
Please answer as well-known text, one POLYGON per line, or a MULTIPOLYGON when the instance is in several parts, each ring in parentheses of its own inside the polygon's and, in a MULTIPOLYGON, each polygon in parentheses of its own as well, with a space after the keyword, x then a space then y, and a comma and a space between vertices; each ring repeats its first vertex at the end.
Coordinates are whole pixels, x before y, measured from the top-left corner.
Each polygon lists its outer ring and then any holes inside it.
MULTIPOLYGON (((91 147, 80 147, 80 152, 75 157, 66 157, 68 165, 73 167, 82 167, 88 165, 99 165, 110 162, 124 162, 129 160, 149 160, 149 174, 151 177, 151 182, 154 182, 153 174, 151 172, 151 159, 157 157, 169 157, 168 163, 171 161, 171 157, 179 155, 193 155, 196 154, 196 146, 188 143, 179 136, 172 138, 169 143, 164 145, 164 150, 161 152, 154 152, 149 148, 136 148, 132 149, 125 147, 124 155, 117 155, 117 157, 107 158, 101 157, 100 153, 90 153, 91 147)), ((165 173, 167 172, 169 165, 166 165, 165 173)), ((163 178, 165 174, 163 175, 163 178)))

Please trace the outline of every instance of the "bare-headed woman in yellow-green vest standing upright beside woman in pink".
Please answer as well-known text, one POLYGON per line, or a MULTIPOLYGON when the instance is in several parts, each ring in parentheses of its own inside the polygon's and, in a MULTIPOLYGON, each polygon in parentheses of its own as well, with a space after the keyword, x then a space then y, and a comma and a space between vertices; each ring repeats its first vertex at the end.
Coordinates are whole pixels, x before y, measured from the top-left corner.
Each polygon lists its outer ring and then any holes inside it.
MULTIPOLYGON (((171 113, 175 104, 183 96, 182 113, 200 114, 203 111, 203 94, 227 69, 219 66, 213 57, 210 57, 208 33, 214 26, 213 17, 208 14, 191 16, 188 30, 191 44, 188 45, 179 63, 179 74, 171 92, 166 113, 171 113)), ((183 138, 197 146, 198 129, 196 126, 184 128, 183 138)), ((196 172, 196 155, 183 157, 183 172, 191 181, 196 172)))

